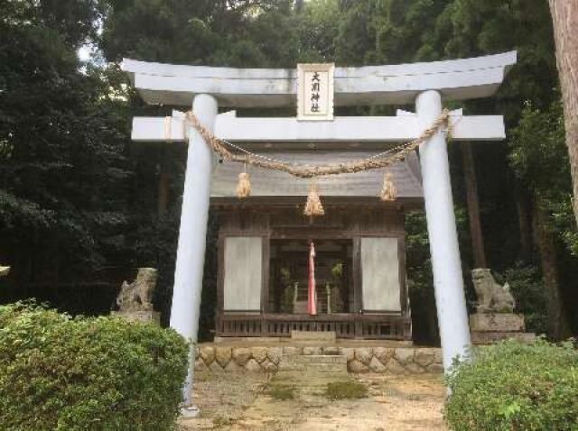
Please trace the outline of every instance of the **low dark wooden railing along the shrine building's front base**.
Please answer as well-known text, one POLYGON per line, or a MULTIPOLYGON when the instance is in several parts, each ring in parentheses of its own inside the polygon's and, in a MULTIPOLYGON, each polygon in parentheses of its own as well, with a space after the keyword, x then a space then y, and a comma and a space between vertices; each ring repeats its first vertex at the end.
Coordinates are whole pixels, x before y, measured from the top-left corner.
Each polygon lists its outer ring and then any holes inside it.
POLYGON ((334 331, 338 338, 411 339, 409 317, 379 314, 225 314, 217 320, 219 336, 291 336, 291 331, 334 331))

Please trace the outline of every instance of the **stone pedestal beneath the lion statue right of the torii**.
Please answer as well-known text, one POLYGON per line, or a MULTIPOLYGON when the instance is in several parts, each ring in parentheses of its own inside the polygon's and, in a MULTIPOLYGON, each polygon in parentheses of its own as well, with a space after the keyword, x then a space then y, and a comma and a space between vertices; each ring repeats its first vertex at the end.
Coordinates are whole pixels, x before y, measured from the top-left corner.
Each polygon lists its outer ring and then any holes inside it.
POLYGON ((508 338, 532 342, 536 335, 524 332, 524 316, 514 313, 476 313, 470 316, 471 342, 491 344, 508 338))

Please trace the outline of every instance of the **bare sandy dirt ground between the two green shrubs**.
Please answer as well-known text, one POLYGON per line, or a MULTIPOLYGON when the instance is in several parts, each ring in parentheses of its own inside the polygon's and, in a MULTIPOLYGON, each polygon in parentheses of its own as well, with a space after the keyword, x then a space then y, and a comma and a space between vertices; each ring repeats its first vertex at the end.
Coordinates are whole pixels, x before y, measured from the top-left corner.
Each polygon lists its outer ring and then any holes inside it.
POLYGON ((441 376, 352 379, 368 388, 367 398, 334 400, 296 388, 293 399, 281 400, 268 393, 266 375, 198 372, 193 397, 200 416, 181 419, 181 430, 446 430, 441 376))

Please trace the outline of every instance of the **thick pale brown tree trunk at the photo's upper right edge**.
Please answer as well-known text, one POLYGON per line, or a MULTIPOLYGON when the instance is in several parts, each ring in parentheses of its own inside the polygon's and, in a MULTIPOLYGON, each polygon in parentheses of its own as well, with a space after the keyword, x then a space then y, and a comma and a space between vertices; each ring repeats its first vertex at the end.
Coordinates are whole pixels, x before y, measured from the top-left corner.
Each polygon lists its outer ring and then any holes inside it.
POLYGON ((578 224, 578 0, 548 0, 556 44, 556 63, 564 100, 566 145, 573 182, 573 208, 578 224))

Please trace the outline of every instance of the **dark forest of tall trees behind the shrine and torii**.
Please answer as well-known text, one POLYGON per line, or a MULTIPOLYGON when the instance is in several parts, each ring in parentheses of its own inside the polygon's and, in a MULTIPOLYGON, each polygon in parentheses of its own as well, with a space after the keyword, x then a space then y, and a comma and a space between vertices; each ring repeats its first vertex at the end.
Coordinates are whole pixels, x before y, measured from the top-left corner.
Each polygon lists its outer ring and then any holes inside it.
MULTIPOLYGON (((160 272, 154 304, 166 324, 185 149, 130 141, 134 115, 167 115, 172 107, 144 105, 119 69, 123 58, 294 68, 506 50, 517 50, 518 60, 497 96, 449 106, 503 114, 508 133, 506 142, 449 147, 469 307, 470 271, 489 267, 510 283, 529 330, 575 335, 578 234, 545 0, 3 0, 0 262, 12 271, 0 281, 0 301, 38 298, 72 314, 107 314, 121 281, 150 266, 160 272)), ((256 114, 294 115, 239 111, 256 114)), ((202 338, 214 327, 218 225, 211 216, 202 338)), ((415 339, 435 344, 423 212, 407 214, 406 228, 415 339)))

